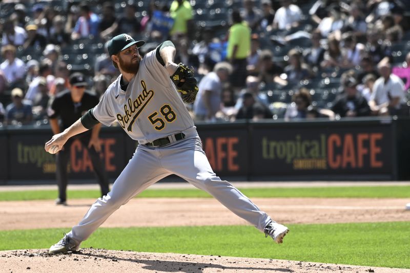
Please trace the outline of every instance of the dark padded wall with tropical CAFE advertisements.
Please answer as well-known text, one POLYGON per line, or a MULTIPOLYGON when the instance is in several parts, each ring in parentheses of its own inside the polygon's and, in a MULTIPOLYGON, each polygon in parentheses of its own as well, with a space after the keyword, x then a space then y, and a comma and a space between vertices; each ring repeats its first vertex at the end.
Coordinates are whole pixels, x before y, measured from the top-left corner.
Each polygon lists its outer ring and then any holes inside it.
MULTIPOLYGON (((408 180, 410 119, 198 123, 211 166, 231 180, 408 180)), ((53 180, 55 156, 42 127, 0 128, 0 181, 53 180)), ((137 147, 119 127, 103 127, 101 160, 115 179, 137 147)), ((93 179, 87 150, 70 148, 69 178, 93 179)))

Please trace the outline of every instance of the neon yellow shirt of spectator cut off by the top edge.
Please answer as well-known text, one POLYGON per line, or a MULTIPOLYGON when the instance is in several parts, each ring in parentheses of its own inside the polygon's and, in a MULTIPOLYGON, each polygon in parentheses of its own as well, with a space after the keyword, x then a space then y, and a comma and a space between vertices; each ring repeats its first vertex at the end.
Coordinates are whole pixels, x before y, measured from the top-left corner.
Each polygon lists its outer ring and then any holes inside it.
POLYGON ((192 7, 188 1, 182 0, 182 3, 174 0, 170 7, 171 17, 174 19, 174 25, 170 34, 183 33, 187 34, 187 21, 192 19, 192 7))

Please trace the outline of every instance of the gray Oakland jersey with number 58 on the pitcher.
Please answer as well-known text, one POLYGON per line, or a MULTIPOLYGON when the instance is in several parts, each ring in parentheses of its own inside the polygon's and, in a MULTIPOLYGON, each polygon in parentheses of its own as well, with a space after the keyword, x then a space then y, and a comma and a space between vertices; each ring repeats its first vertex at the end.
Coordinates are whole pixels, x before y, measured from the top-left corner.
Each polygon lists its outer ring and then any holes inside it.
POLYGON ((119 76, 94 108, 94 117, 105 125, 117 121, 139 143, 152 142, 194 127, 178 91, 155 56, 146 54, 138 73, 121 90, 119 76))

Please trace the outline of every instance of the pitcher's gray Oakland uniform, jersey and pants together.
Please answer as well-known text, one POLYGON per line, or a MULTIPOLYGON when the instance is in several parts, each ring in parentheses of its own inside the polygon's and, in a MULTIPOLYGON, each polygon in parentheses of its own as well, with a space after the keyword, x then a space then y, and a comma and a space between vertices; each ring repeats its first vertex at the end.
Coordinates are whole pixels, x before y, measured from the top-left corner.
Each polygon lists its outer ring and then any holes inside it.
POLYGON ((261 232, 272 221, 237 188, 213 172, 191 116, 167 70, 157 60, 155 51, 142 59, 138 73, 127 90, 121 90, 120 78, 112 83, 93 114, 106 125, 117 121, 131 138, 142 145, 138 145, 133 157, 115 180, 111 192, 99 198, 83 220, 71 229, 68 236, 78 244, 86 240, 121 205, 171 174, 207 191, 261 232), (144 145, 180 132, 185 134, 185 139, 163 146, 144 145))

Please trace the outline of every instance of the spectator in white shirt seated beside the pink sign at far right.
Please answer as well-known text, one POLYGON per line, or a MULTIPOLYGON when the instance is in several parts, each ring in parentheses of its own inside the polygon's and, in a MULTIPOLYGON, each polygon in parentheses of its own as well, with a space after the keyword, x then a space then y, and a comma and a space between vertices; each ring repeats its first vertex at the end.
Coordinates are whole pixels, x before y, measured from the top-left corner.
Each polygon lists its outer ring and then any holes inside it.
POLYGON ((404 101, 404 82, 392 74, 388 57, 383 58, 377 68, 380 73, 373 86, 369 106, 378 115, 399 115, 404 101))

